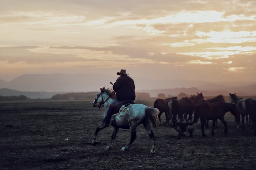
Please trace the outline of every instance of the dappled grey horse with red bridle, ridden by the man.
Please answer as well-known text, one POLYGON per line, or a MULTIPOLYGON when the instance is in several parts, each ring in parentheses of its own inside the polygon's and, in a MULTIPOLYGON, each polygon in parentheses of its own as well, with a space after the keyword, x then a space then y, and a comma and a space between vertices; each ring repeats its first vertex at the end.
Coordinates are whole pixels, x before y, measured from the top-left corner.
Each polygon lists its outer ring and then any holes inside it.
MULTIPOLYGON (((94 107, 101 107, 104 105, 105 112, 104 116, 106 116, 110 104, 113 102, 113 92, 109 89, 105 89, 104 87, 101 88, 100 92, 97 94, 97 98, 95 98, 93 102, 94 107)), ((153 124, 154 128, 157 128, 156 119, 157 114, 159 113, 157 108, 150 108, 143 104, 131 104, 127 108, 120 109, 118 114, 112 116, 111 125, 114 127, 114 131, 112 134, 112 140, 106 150, 112 150, 113 143, 119 128, 122 129, 130 129, 131 132, 131 139, 127 146, 123 147, 121 151, 128 150, 132 142, 136 139, 136 128, 139 124, 143 124, 144 128, 148 132, 151 142, 152 142, 152 149, 151 153, 155 153, 155 139, 154 133, 151 130, 151 123, 153 124)), ((96 141, 97 134, 100 130, 108 127, 108 125, 102 123, 97 129, 93 137, 93 145, 99 143, 96 141)))

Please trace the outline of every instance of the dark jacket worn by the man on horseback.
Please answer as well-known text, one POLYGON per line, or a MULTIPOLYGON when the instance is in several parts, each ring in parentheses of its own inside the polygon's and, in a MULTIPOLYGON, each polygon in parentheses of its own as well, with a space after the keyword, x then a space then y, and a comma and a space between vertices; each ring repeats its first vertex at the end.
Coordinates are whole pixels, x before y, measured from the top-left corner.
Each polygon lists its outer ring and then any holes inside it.
POLYGON ((114 83, 113 89, 116 91, 117 100, 135 100, 135 85, 128 75, 119 77, 114 83))

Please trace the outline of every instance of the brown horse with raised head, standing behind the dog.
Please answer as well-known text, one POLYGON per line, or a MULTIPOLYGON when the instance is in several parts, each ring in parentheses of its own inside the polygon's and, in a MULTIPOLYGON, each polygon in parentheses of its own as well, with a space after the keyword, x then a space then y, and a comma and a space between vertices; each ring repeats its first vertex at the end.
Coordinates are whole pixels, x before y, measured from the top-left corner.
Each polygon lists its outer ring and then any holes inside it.
POLYGON ((186 120, 186 122, 188 122, 188 120, 192 122, 192 114, 194 112, 194 108, 198 100, 200 99, 203 99, 202 92, 200 94, 197 93, 196 96, 192 96, 190 98, 188 97, 181 98, 181 100, 179 101, 180 112, 182 115, 184 115, 184 119, 186 120), (189 115, 188 119, 187 119, 187 115, 189 115))

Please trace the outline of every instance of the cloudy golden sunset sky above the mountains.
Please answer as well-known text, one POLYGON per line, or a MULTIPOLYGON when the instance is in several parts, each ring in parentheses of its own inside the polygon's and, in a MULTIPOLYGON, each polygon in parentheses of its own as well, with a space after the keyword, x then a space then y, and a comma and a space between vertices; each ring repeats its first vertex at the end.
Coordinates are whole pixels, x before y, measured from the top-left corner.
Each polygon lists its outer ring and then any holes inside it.
POLYGON ((0 79, 256 81, 255 0, 0 0, 0 79))

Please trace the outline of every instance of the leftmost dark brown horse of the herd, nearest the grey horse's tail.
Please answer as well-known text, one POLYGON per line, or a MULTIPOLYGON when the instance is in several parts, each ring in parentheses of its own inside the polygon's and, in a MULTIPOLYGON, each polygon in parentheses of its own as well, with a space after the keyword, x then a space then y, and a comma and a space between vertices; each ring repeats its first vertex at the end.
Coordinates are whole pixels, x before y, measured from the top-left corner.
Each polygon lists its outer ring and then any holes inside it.
MULTIPOLYGON (((165 112, 166 118, 168 116, 168 112, 169 112, 168 101, 171 99, 177 99, 177 97, 172 97, 172 98, 167 98, 167 99, 156 99, 154 102, 154 108, 158 108, 158 110, 160 112, 158 114, 158 119, 159 119, 160 125, 162 124, 161 123, 162 113, 165 112)), ((167 119, 166 119, 166 123, 167 123, 167 119)))

